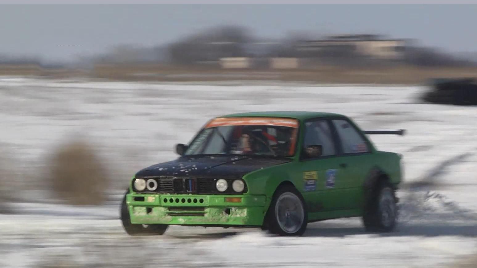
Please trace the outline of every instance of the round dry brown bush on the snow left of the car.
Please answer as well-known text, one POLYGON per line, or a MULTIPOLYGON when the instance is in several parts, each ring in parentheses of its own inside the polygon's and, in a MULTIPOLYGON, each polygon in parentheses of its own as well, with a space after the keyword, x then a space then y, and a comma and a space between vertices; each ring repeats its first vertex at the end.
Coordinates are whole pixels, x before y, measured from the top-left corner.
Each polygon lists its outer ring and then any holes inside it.
POLYGON ((60 145, 50 160, 51 189, 69 205, 100 205, 109 186, 105 165, 88 142, 78 139, 60 145))

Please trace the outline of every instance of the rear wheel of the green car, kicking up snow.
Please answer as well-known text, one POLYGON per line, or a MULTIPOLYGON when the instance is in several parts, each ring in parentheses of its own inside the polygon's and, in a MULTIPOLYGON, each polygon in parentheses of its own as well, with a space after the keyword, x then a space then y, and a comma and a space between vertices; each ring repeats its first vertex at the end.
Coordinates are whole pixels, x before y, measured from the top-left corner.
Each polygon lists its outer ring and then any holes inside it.
POLYGON ((380 182, 368 196, 363 224, 366 231, 391 232, 396 227, 398 208, 393 187, 380 182))

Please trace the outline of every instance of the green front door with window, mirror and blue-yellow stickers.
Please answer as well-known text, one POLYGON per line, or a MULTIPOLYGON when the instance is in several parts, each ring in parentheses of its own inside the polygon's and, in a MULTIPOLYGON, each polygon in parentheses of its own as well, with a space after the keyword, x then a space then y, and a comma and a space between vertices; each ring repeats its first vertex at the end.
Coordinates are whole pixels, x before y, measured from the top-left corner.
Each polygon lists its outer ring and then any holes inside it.
POLYGON ((345 185, 341 180, 338 144, 333 137, 330 121, 322 118, 306 121, 302 146, 302 193, 312 219, 312 213, 333 211, 342 206, 340 191, 345 185), (321 145, 321 155, 307 154, 307 148, 311 145, 321 145))

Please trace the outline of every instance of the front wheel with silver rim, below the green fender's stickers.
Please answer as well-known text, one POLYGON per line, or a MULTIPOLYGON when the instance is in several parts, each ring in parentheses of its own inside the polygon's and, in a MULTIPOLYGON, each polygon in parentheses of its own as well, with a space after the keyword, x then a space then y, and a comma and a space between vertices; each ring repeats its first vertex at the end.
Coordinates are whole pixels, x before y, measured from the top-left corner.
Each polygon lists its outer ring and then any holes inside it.
POLYGON ((273 195, 262 229, 280 236, 301 236, 307 223, 308 214, 303 196, 293 186, 280 186, 273 195), (292 210, 291 205, 295 207, 292 210), (287 223, 293 226, 287 229, 287 223))

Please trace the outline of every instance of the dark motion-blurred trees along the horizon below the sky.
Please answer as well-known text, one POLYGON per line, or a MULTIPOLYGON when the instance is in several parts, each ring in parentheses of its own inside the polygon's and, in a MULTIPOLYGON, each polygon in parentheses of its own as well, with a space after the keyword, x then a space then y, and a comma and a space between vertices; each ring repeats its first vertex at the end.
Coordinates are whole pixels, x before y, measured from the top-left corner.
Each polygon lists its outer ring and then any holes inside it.
MULTIPOLYGON (((298 49, 300 44, 310 40, 320 40, 307 32, 290 32, 278 39, 257 37, 250 29, 237 25, 225 25, 204 29, 192 33, 175 42, 144 47, 130 44, 118 44, 109 51, 91 56, 79 56, 76 65, 91 67, 95 63, 159 63, 175 65, 217 64, 226 57, 290 57, 303 58, 310 62, 334 65, 369 66, 379 63, 346 46, 327 47, 321 50, 305 51, 298 49)), ((398 64, 415 66, 472 66, 474 57, 459 57, 437 49, 406 45, 403 57, 398 64)), ((39 57, 11 57, 0 55, 0 64, 38 64, 48 67, 61 63, 42 63, 39 57)))

